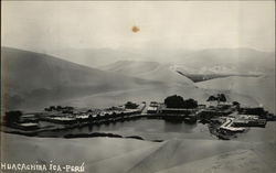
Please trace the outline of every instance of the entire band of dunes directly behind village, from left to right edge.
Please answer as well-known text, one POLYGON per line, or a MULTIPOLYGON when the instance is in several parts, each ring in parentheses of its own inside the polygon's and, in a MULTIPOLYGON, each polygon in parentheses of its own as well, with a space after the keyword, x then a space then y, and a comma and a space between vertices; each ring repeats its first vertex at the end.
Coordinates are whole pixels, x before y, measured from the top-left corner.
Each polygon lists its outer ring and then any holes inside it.
POLYGON ((10 109, 41 110, 49 105, 108 107, 128 100, 163 101, 176 94, 204 104, 210 95, 223 91, 230 101, 263 104, 275 112, 275 79, 270 76, 230 77, 195 86, 171 64, 120 61, 104 66, 106 72, 9 47, 2 47, 1 55, 6 93, 2 99, 10 109))

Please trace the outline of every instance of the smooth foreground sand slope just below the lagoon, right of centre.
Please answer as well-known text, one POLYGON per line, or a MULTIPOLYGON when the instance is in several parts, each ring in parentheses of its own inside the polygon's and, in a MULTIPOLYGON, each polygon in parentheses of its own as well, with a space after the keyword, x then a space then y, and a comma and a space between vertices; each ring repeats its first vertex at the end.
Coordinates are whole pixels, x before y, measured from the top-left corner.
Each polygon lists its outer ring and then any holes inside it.
POLYGON ((244 148, 244 143, 226 143, 213 140, 169 140, 159 150, 130 170, 129 173, 158 172, 241 148, 244 148))

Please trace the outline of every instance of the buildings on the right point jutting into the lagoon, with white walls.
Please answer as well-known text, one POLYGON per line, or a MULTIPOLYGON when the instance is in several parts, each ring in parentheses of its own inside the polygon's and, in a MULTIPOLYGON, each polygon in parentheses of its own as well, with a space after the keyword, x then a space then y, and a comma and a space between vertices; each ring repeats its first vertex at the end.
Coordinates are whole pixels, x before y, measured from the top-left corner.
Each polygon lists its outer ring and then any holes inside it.
MULTIPOLYGON (((216 107, 216 109, 220 108, 216 107)), ((201 118, 209 122, 210 132, 224 140, 235 137, 236 133, 244 132, 250 127, 265 128, 267 121, 276 120, 274 115, 268 113, 262 107, 236 108, 232 106, 229 109, 217 111, 221 113, 215 111, 215 113, 213 111, 206 113, 206 110, 202 112, 204 113, 201 118)))

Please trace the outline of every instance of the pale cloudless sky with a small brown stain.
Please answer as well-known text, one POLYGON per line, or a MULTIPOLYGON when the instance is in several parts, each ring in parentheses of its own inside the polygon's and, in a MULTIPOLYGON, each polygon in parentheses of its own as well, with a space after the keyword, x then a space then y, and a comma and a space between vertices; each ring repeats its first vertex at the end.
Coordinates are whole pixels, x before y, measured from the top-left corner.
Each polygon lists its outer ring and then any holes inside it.
POLYGON ((275 48, 274 1, 1 3, 1 44, 30 51, 275 48))

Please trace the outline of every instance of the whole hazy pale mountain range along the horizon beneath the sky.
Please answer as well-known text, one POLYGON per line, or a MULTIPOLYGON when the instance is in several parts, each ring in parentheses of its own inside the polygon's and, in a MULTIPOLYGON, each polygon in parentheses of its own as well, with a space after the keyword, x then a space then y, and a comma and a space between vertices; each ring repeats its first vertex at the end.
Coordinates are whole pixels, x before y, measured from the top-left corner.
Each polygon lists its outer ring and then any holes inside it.
POLYGON ((252 48, 208 50, 110 50, 64 48, 49 52, 59 57, 91 67, 108 65, 118 61, 173 63, 190 74, 267 74, 275 72, 275 53, 252 48))

